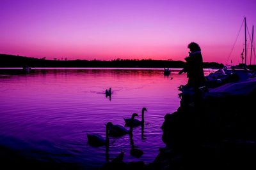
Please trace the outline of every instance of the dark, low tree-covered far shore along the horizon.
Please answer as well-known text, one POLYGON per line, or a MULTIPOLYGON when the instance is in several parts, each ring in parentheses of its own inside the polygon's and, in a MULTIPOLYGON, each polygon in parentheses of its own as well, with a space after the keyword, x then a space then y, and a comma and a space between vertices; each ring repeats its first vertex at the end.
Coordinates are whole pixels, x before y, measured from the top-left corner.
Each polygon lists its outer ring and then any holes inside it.
MULTIPOLYGON (((46 60, 22 57, 17 55, 0 54, 0 67, 153 67, 153 68, 181 68, 185 62, 175 60, 46 60)), ((217 62, 204 62, 205 68, 218 68, 217 62)))

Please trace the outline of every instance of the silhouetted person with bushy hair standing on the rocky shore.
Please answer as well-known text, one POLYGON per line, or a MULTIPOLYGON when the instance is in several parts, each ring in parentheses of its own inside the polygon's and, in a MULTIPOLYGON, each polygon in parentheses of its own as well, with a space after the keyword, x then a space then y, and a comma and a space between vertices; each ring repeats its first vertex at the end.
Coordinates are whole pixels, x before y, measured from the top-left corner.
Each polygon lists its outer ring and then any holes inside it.
POLYGON ((191 42, 188 45, 190 50, 189 56, 185 58, 186 66, 179 72, 179 74, 187 73, 189 87, 193 87, 195 91, 205 83, 203 57, 200 46, 191 42))

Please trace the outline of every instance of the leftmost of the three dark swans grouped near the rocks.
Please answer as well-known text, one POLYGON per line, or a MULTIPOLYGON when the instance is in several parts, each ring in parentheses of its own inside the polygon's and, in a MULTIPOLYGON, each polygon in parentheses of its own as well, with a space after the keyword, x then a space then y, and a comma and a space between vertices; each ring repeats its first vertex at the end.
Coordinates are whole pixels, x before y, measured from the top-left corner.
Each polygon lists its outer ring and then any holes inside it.
POLYGON ((99 134, 88 134, 88 144, 91 146, 103 146, 109 145, 109 126, 111 124, 106 124, 106 139, 100 136, 99 134))

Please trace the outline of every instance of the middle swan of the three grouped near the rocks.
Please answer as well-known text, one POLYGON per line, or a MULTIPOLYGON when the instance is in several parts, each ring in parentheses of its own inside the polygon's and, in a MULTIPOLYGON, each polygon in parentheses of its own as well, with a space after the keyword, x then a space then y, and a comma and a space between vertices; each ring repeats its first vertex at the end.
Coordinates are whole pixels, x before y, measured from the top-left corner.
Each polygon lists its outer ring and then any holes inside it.
MULTIPOLYGON (((138 117, 137 113, 132 114, 131 121, 133 121, 135 117, 138 117)), ((122 125, 113 125, 111 122, 109 122, 108 124, 109 124, 109 136, 120 137, 132 132, 132 128, 127 130, 122 125)))

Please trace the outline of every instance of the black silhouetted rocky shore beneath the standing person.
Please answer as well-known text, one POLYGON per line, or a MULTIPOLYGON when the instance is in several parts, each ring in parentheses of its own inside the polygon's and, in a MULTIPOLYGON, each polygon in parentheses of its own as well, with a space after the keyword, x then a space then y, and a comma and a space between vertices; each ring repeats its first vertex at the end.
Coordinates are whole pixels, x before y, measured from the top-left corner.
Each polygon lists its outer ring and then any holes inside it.
POLYGON ((166 147, 154 162, 120 159, 103 169, 256 169, 255 89, 246 95, 183 94, 179 109, 164 117, 166 147))

